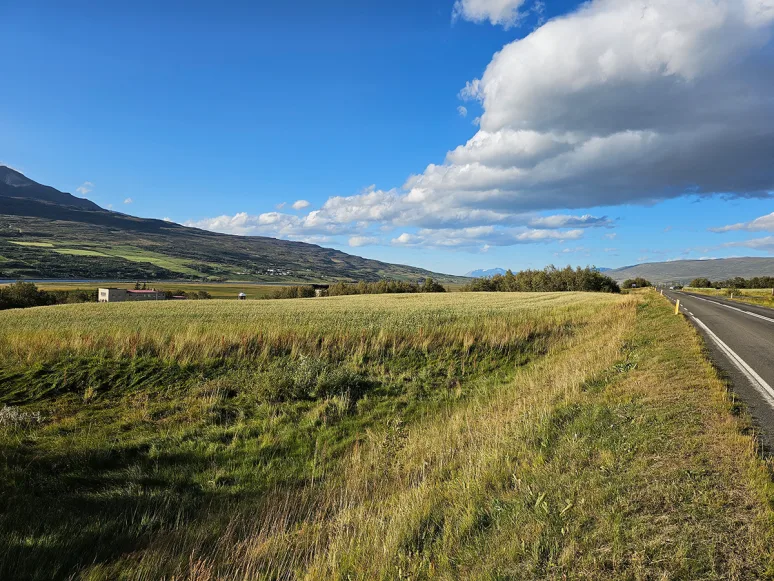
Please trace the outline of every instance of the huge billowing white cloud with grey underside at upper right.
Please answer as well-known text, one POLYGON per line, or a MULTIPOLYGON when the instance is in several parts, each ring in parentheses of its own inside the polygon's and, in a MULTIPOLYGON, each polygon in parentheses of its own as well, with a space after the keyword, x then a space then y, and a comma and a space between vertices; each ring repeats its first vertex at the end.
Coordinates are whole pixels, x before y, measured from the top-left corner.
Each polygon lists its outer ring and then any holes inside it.
MULTIPOLYGON (((507 26, 524 6, 460 0, 454 10, 507 26)), ((368 236, 381 225, 402 233, 396 244, 520 243, 519 228, 610 225, 567 209, 769 196, 773 26, 774 0, 593 0, 508 44, 467 83, 480 130, 443 163, 402 188, 283 214, 271 231, 368 236)))

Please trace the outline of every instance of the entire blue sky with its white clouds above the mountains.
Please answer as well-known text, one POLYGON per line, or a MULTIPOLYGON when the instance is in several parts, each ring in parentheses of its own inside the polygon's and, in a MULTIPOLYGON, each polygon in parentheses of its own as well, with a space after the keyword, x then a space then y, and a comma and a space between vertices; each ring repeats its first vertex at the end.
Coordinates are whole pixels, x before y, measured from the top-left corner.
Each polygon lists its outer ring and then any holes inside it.
POLYGON ((774 0, 0 18, 0 162, 104 207, 458 274, 774 254, 774 0))

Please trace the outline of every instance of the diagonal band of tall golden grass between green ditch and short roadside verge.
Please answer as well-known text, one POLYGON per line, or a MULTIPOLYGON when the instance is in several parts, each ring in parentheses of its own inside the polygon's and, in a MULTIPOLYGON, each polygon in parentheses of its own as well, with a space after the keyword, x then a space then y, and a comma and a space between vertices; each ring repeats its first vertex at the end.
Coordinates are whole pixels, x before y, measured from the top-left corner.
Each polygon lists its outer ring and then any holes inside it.
MULTIPOLYGON (((322 485, 275 491, 262 509, 233 516, 216 540, 193 542, 200 548, 178 578, 459 578, 456 562, 491 499, 520 486, 521 466, 543 461, 533 446, 543 423, 617 360, 634 324, 633 297, 577 298, 582 330, 509 385, 415 425, 375 427, 322 485), (584 302, 605 308, 590 314, 584 302)), ((139 570, 157 570, 191 543, 188 535, 168 536, 143 555, 139 570)))

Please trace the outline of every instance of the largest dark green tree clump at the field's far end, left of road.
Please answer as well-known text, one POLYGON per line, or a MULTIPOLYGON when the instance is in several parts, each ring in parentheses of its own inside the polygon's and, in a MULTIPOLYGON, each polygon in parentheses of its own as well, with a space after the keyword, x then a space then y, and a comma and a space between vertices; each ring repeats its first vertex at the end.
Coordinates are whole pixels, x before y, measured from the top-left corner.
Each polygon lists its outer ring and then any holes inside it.
POLYGON ((620 293, 621 288, 609 276, 593 267, 558 269, 551 265, 543 270, 522 270, 514 274, 480 278, 462 288, 467 292, 556 292, 586 291, 620 293))

